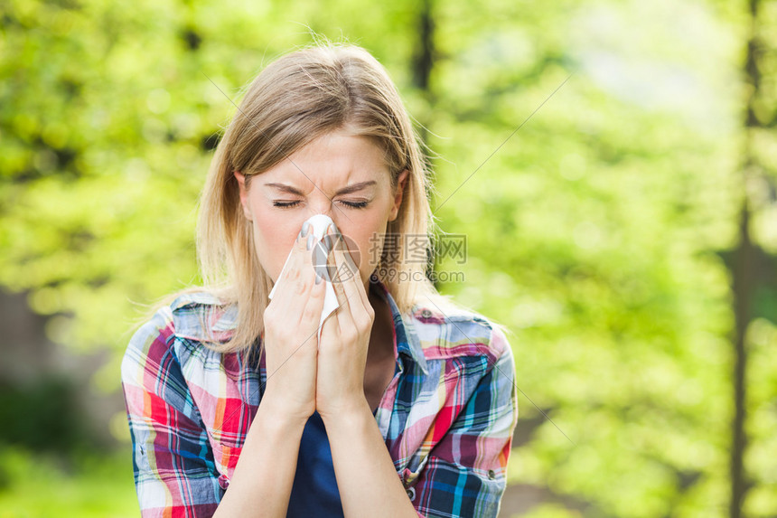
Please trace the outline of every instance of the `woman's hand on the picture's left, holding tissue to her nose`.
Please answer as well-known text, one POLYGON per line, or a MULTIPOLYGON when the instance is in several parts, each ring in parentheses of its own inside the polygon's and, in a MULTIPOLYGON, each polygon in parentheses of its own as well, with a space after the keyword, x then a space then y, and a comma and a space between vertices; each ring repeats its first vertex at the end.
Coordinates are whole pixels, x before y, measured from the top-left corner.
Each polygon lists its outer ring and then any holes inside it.
POLYGON ((324 283, 315 284, 313 228, 308 225, 304 231, 265 309, 267 388, 261 403, 271 405, 278 418, 303 423, 315 410, 317 335, 325 294, 324 283))

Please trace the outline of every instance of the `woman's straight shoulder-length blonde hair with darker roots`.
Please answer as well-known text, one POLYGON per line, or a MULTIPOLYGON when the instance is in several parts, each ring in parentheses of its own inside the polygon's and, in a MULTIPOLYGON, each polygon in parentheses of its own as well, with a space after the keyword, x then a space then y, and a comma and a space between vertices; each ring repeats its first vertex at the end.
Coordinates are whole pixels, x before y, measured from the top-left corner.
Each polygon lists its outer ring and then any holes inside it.
MULTIPOLYGON (((237 306, 234 334, 227 342, 206 344, 211 349, 229 353, 257 344, 272 288, 257 259, 234 172, 245 174, 248 183, 317 137, 340 129, 370 137, 383 150, 392 189, 398 186, 398 175, 409 171, 398 217, 389 221, 386 232, 426 236, 425 251, 431 257, 435 220, 429 171, 422 143, 388 72, 370 52, 352 44, 316 42, 288 53, 248 85, 220 139, 201 195, 197 250, 204 287, 225 306, 237 306)), ((407 313, 426 297, 440 308, 461 307, 436 291, 426 278, 425 262, 405 260, 405 240, 392 244, 396 247, 390 254, 384 248, 373 275, 385 283, 400 312, 407 313), (394 275, 387 277, 387 272, 394 275)))

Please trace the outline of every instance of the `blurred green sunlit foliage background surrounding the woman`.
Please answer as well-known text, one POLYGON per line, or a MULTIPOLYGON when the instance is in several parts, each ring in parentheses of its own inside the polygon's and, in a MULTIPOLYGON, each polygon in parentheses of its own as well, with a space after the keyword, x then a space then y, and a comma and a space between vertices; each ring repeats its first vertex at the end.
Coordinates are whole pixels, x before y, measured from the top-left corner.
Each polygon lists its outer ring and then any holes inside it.
POLYGON ((0 14, 0 516, 137 514, 121 354, 199 280, 231 100, 312 34, 387 67, 468 239, 440 290, 512 331, 501 515, 777 516, 777 3, 0 14))

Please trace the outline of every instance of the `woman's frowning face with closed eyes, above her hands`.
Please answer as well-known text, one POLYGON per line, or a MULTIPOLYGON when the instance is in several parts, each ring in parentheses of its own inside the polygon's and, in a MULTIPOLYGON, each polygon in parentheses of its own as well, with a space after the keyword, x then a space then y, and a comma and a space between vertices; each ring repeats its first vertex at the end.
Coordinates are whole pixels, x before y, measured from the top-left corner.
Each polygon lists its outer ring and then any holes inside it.
MULTIPOLYGON (((240 185, 243 212, 252 221, 262 268, 276 282, 304 221, 325 214, 358 248, 361 281, 378 266, 389 221, 397 219, 407 170, 392 192, 382 150, 367 137, 342 131, 319 137, 288 159, 240 185)), ((353 255, 353 254, 352 254, 353 255)))

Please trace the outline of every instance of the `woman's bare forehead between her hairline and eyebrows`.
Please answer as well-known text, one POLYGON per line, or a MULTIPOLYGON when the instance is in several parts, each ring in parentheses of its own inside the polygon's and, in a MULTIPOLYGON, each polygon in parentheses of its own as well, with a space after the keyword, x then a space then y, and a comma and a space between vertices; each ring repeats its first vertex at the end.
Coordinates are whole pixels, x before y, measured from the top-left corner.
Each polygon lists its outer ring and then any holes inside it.
POLYGON ((383 150, 369 137, 341 132, 325 134, 261 174, 264 182, 304 188, 311 182, 341 186, 350 182, 389 182, 383 150))

